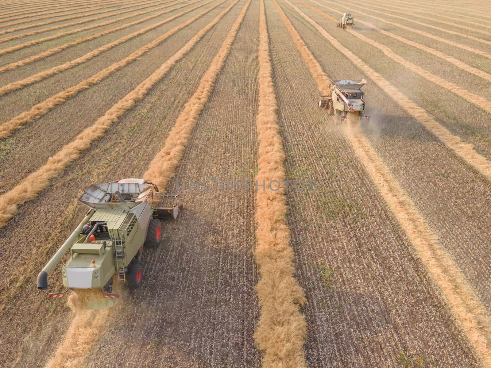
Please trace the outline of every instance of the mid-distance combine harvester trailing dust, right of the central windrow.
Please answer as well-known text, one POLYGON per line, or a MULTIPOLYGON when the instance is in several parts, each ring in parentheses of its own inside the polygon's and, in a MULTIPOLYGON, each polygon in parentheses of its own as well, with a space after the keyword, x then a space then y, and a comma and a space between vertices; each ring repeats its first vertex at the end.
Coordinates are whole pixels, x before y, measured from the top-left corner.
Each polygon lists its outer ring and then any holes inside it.
POLYGON ((327 108, 329 115, 334 115, 335 123, 347 119, 349 112, 357 113, 360 123, 363 119, 370 119, 365 115, 365 93, 361 90, 366 82, 365 79, 358 82, 351 79, 334 80, 329 84, 331 94, 321 96, 319 107, 327 108))

